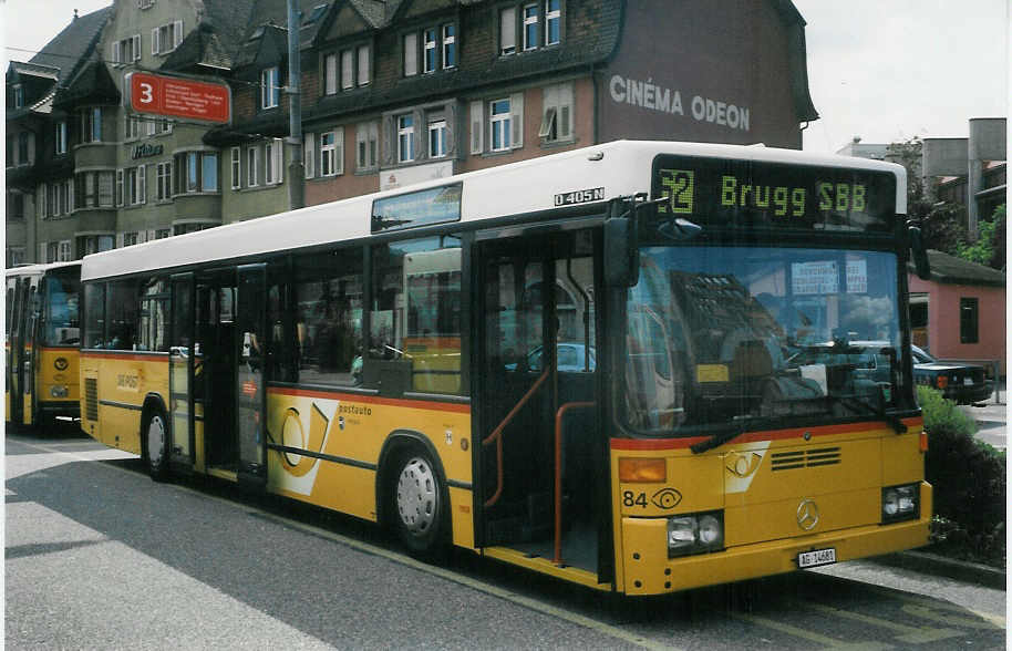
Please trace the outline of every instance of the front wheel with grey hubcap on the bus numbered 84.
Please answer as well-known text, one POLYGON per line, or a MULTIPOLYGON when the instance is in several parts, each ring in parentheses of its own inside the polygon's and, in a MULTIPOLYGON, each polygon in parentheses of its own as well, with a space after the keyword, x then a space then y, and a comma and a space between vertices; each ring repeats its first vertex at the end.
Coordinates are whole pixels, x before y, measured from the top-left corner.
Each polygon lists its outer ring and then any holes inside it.
POLYGON ((448 547, 450 496, 424 452, 407 451, 394 465, 390 513, 397 538, 415 556, 436 558, 448 547))

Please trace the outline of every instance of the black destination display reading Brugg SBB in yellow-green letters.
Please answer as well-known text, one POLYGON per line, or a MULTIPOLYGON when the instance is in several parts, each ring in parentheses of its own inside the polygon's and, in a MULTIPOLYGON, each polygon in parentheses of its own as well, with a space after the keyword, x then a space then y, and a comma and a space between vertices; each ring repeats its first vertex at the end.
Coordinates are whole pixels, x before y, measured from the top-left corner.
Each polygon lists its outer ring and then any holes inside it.
POLYGON ((658 215, 700 225, 891 232, 896 177, 888 172, 729 158, 658 156, 658 215))

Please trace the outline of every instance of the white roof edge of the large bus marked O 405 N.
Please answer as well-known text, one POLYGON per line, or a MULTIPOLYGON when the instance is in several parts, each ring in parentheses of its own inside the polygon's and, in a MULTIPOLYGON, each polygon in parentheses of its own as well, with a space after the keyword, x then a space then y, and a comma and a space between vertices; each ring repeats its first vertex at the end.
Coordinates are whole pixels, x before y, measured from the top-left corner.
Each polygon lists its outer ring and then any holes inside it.
POLYGON ((456 224, 549 210, 556 207, 556 195, 586 189, 605 188, 603 200, 649 193, 658 154, 889 172, 897 178, 896 211, 907 209, 906 169, 892 163, 763 146, 617 141, 93 254, 84 258, 81 278, 112 278, 366 237, 375 199, 453 183, 463 183, 456 224))

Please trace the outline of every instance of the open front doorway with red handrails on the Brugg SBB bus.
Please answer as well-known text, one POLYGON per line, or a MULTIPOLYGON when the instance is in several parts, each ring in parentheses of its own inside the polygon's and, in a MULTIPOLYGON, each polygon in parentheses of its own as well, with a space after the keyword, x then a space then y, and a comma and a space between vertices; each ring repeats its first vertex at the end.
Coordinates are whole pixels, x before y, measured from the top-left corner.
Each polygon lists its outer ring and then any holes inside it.
POLYGON ((598 237, 492 237, 478 247, 479 545, 600 576, 598 237))

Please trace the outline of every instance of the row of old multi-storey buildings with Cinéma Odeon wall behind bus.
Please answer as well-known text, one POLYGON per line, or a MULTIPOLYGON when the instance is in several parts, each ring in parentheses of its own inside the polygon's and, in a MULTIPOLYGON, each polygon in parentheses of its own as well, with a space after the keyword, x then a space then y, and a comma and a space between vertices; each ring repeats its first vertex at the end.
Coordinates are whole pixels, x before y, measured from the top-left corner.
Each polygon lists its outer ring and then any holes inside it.
POLYGON ((11 186, 22 170, 8 138, 9 187, 64 202, 56 228, 38 199, 9 190, 8 264, 278 213, 292 183, 312 205, 618 138, 799 148, 817 114, 793 3, 674 4, 300 1, 299 166, 286 142, 285 2, 116 1, 84 17, 97 27, 73 70, 33 59, 8 72, 9 133, 13 86, 30 65, 59 78, 53 113, 13 120, 49 133, 52 116, 69 116, 63 176, 11 186), (663 20, 673 13, 680 20, 663 20), (231 123, 132 115, 123 91, 134 71, 225 81, 231 123), (24 215, 20 226, 12 214, 24 215))

